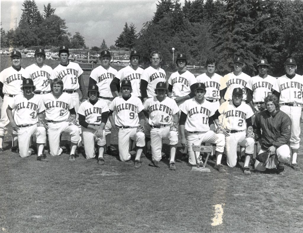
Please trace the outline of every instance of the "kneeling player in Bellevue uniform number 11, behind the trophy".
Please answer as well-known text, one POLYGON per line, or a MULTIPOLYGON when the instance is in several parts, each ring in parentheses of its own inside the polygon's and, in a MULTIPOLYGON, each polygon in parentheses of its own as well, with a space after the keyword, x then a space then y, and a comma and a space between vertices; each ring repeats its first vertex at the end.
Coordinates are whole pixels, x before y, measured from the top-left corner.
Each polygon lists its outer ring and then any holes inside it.
MULTIPOLYGON (((221 158, 225 146, 225 136, 216 134, 210 130, 209 125, 213 124, 212 115, 214 111, 210 102, 204 99, 206 86, 204 83, 197 83, 195 87, 195 98, 186 100, 180 105, 180 134, 181 144, 188 146, 188 163, 192 166, 196 165, 195 152, 192 145, 201 145, 202 142, 211 142, 216 144, 216 169, 219 172, 226 172, 225 167, 221 164, 221 158), (185 129, 187 136, 185 138, 185 129)), ((212 127, 215 129, 214 125, 212 127)), ((198 153, 196 152, 198 157, 198 153)))

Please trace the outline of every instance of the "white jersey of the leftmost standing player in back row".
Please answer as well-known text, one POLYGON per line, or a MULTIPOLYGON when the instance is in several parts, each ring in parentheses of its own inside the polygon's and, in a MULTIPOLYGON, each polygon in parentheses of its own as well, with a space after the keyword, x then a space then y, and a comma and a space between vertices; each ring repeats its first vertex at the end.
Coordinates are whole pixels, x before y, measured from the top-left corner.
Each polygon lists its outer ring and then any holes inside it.
POLYGON ((29 79, 29 73, 23 68, 21 68, 20 71, 17 71, 11 66, 2 70, 0 73, 0 82, 3 83, 3 94, 22 94, 21 87, 23 78, 29 79))

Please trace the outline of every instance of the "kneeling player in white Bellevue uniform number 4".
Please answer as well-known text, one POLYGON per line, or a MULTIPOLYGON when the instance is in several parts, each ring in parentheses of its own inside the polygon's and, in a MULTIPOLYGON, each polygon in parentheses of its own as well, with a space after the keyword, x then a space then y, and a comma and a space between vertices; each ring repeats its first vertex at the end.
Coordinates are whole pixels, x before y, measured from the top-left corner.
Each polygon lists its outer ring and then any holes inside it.
POLYGON ((45 107, 39 95, 34 95, 35 86, 32 79, 23 79, 22 89, 24 94, 14 97, 14 102, 9 103, 7 115, 12 128, 18 133, 18 145, 20 157, 25 158, 33 153, 30 149, 30 138, 33 134, 37 138, 37 160, 47 162, 43 153, 46 142, 45 128, 37 126, 38 118, 43 118, 45 107), (15 109, 13 116, 12 110, 15 109))

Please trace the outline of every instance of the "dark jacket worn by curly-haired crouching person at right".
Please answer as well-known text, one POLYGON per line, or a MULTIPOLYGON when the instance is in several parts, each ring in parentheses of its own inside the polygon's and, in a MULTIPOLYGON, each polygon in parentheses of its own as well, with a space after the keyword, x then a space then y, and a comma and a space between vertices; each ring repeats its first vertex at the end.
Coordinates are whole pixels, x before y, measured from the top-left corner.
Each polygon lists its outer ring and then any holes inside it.
POLYGON ((288 144, 291 136, 291 119, 278 110, 271 116, 267 110, 260 112, 255 117, 253 125, 255 139, 261 138, 261 148, 267 150, 271 146, 280 147, 288 144), (262 129, 262 134, 261 134, 262 129))

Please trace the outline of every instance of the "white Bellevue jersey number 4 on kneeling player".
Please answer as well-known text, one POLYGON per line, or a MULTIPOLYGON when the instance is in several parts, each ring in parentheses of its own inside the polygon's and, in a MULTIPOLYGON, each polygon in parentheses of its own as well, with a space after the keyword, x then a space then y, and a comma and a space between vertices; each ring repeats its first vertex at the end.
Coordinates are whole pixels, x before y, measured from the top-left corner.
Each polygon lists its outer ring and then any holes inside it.
POLYGON ((14 103, 9 105, 15 109, 16 125, 34 125, 38 122, 38 114, 45 110, 43 100, 39 95, 26 99, 23 94, 14 97, 14 103))

